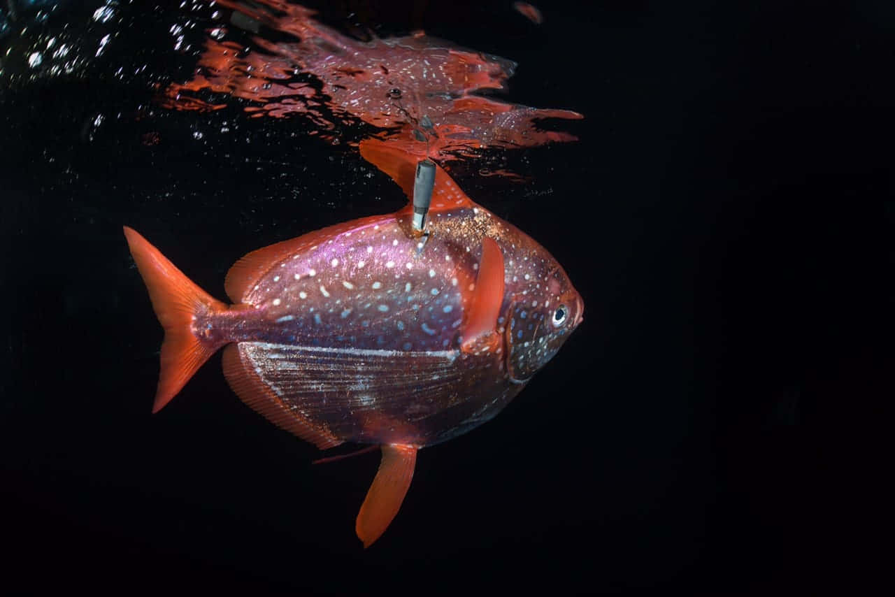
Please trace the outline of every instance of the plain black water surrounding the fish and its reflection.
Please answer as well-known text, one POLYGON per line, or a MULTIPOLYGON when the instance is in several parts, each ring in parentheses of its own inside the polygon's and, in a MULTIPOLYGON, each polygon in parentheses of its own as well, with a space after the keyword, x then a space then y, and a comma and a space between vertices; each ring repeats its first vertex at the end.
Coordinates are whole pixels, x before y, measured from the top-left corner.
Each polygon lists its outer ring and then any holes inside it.
POLYGON ((24 12, 0 38, 13 592, 768 594, 882 566, 895 5, 549 3, 540 27, 508 2, 329 5, 342 30, 506 56, 510 101, 585 115, 557 125, 577 143, 482 161, 529 183, 453 171, 563 264, 584 324, 494 421, 422 450, 362 550, 378 455, 311 465, 219 357, 149 414, 162 333, 121 226, 223 297, 243 253, 403 198, 301 118, 153 104, 195 64, 170 32, 192 5, 135 4, 24 12), (48 34, 83 64, 30 76, 48 34))

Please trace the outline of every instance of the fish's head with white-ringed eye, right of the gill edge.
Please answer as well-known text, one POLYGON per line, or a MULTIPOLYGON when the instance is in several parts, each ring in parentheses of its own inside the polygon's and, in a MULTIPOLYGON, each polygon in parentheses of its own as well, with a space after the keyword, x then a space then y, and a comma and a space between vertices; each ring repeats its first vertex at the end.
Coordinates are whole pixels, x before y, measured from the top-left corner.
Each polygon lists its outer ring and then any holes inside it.
POLYGON ((584 319, 584 301, 566 272, 557 265, 547 280, 514 294, 504 316, 507 371, 516 382, 531 379, 584 319))

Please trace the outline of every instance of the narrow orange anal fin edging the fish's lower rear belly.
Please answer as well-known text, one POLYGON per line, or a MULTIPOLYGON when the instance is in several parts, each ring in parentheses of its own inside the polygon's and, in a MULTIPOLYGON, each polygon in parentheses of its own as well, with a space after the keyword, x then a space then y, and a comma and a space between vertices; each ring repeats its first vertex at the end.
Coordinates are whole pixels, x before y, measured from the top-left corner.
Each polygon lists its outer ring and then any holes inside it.
POLYGON ((239 345, 224 349, 224 377, 236 396, 256 413, 262 414, 280 429, 310 441, 320 449, 334 448, 342 443, 322 425, 315 425, 302 414, 290 409, 283 400, 260 379, 250 365, 243 362, 239 345))

